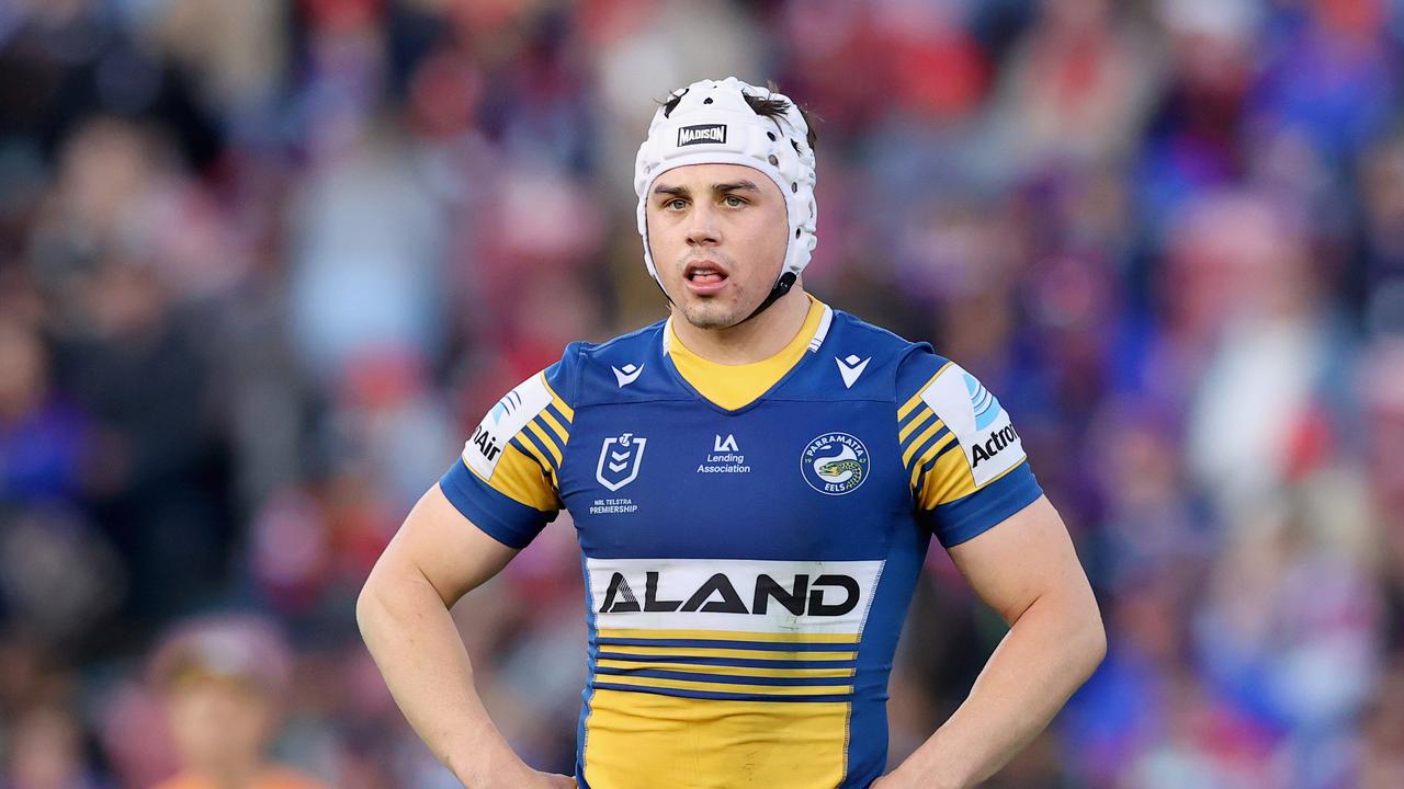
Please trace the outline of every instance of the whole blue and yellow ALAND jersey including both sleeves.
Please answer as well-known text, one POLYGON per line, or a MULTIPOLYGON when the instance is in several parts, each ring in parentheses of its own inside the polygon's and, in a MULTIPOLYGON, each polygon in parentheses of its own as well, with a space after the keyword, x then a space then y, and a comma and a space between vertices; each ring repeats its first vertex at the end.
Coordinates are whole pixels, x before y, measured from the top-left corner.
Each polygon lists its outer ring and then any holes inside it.
POLYGON ((1040 496, 998 400, 927 344, 813 300, 771 359, 717 365, 668 321, 576 343, 441 480, 521 548, 571 512, 594 789, 868 786, 931 536, 1040 496))

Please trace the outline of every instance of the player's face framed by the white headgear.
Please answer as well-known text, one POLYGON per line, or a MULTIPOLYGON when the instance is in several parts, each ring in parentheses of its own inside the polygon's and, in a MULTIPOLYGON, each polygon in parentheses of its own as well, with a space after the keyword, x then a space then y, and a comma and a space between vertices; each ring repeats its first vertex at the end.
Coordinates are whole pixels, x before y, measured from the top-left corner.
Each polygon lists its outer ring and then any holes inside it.
POLYGON ((724 329, 751 314, 785 263, 785 198, 760 170, 668 170, 653 183, 646 216, 658 279, 698 329, 724 329))

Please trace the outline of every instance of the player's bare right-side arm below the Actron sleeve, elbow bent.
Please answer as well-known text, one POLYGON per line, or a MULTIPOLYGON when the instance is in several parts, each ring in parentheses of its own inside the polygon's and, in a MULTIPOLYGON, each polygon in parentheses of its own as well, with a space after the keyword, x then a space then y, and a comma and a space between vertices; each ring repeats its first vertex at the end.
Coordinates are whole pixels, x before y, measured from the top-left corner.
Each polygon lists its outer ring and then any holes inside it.
POLYGON ((965 703, 875 789, 984 781, 1049 724, 1106 653, 1097 599, 1047 498, 949 552, 1009 632, 965 703))

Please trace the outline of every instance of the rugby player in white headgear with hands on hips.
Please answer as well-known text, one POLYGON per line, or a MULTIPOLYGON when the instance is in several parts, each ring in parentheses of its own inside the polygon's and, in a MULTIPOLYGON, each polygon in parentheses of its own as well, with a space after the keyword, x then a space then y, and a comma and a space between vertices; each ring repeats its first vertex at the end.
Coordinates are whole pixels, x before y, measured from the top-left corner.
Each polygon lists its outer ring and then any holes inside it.
POLYGON ((670 317, 570 344, 507 393, 380 557, 357 614, 468 786, 972 786, 1101 661, 1059 514, 998 399, 925 343, 806 293, 814 135, 736 79, 657 111, 635 170, 670 317), (526 767, 449 608, 569 510, 588 623, 574 776, 526 767), (887 675, 931 538, 1009 623, 887 775, 887 675))

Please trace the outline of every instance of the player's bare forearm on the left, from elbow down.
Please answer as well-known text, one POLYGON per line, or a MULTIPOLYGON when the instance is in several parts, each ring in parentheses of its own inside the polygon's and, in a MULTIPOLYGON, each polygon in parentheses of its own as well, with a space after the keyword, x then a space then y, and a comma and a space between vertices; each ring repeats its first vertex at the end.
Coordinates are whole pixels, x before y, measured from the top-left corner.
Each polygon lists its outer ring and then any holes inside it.
POLYGON ((463 640, 423 576, 372 573, 357 622, 404 717, 459 781, 479 789, 528 769, 487 716, 463 640))

